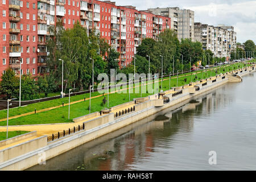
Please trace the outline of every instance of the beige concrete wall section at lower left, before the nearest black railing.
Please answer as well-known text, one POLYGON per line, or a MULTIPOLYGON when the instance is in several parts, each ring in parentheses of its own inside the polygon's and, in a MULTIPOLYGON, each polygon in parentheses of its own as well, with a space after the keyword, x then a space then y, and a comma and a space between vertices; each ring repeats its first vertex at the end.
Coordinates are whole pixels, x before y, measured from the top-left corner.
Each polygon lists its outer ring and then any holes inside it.
POLYGON ((0 151, 0 163, 47 146, 47 136, 29 140, 0 151))

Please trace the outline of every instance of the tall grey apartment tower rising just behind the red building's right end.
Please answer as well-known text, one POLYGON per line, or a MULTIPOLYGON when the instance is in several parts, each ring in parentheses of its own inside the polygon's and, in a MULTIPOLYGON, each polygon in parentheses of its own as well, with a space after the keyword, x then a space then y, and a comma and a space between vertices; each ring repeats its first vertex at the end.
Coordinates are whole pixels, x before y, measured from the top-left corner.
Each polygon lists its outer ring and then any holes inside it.
POLYGON ((148 9, 148 11, 156 15, 170 17, 172 19, 171 27, 177 32, 179 40, 190 38, 194 41, 194 11, 180 10, 179 7, 158 7, 156 9, 148 9))

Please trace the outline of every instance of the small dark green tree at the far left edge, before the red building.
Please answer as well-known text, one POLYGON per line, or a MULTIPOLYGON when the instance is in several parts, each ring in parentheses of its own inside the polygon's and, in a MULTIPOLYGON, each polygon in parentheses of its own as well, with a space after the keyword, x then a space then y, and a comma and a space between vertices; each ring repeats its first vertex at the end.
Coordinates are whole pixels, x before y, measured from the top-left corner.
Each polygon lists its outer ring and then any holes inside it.
POLYGON ((1 77, 0 92, 5 95, 6 98, 18 98, 19 96, 19 78, 15 76, 15 73, 11 68, 6 69, 5 74, 1 77))

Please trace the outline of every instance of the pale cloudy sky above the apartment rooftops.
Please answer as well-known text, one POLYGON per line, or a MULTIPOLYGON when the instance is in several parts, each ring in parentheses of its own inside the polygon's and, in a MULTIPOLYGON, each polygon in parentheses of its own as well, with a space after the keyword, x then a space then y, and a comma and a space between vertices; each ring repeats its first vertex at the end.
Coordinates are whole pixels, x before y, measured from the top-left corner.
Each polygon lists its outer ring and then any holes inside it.
POLYGON ((154 7, 180 7, 195 11, 195 22, 234 26, 237 42, 256 43, 256 1, 254 0, 116 0, 116 5, 132 5, 138 10, 154 7))

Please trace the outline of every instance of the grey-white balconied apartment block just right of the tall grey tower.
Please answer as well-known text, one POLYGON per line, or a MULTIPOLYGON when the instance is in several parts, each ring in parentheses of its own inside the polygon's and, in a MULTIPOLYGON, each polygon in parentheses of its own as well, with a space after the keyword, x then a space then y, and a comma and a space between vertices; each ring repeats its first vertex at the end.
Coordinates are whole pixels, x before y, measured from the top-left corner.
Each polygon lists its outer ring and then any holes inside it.
POLYGON ((230 57, 236 51, 237 35, 234 27, 195 23, 195 40, 203 44, 203 49, 209 49, 216 57, 230 57))

